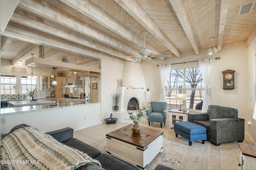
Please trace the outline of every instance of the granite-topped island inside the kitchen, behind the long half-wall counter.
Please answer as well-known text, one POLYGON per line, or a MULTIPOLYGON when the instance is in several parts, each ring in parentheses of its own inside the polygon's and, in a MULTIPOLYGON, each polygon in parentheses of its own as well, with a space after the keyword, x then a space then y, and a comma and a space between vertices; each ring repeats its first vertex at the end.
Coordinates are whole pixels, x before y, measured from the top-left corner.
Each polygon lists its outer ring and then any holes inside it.
POLYGON ((17 100, 17 101, 7 101, 7 106, 8 107, 37 106, 37 105, 55 104, 55 102, 56 101, 50 101, 46 99, 40 99, 37 101, 17 100))

